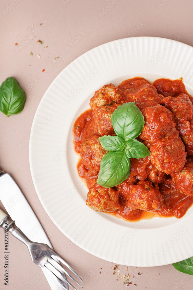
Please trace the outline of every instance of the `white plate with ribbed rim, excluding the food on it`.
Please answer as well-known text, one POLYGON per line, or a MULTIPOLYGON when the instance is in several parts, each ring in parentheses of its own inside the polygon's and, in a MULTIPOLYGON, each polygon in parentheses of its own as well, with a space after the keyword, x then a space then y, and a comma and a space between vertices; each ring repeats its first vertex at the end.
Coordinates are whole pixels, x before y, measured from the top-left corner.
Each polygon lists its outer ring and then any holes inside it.
POLYGON ((52 82, 36 111, 30 168, 38 196, 53 222, 73 242, 102 259, 129 266, 159 266, 193 256, 193 207, 181 219, 127 222, 85 205, 77 174, 72 126, 104 84, 141 76, 183 77, 192 87, 193 48, 170 39, 133 37, 98 46, 74 60, 52 82))

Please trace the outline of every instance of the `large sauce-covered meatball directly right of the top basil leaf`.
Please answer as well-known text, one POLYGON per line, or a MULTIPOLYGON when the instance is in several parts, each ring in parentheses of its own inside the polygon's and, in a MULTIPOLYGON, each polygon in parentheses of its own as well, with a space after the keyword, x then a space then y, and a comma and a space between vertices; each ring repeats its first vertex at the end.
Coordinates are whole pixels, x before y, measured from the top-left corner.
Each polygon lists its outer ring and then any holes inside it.
POLYGON ((142 140, 148 140, 150 144, 153 144, 158 139, 165 137, 167 133, 174 132, 179 135, 175 128, 174 116, 167 108, 157 105, 145 108, 141 110, 141 113, 145 121, 144 128, 139 135, 142 140))

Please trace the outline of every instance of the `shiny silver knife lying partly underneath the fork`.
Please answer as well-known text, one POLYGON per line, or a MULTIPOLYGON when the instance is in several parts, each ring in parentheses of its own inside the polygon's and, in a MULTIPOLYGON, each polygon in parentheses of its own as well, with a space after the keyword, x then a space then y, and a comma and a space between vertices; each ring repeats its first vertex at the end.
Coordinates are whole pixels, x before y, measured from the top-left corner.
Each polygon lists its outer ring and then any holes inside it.
MULTIPOLYGON (((19 186, 9 173, 3 171, 0 172, 0 200, 9 216, 30 240, 45 243, 53 249, 43 227, 19 186)), ((42 269, 42 271, 52 290, 64 290, 45 270, 42 269)), ((68 289, 67 283, 65 283, 65 286, 68 289)))

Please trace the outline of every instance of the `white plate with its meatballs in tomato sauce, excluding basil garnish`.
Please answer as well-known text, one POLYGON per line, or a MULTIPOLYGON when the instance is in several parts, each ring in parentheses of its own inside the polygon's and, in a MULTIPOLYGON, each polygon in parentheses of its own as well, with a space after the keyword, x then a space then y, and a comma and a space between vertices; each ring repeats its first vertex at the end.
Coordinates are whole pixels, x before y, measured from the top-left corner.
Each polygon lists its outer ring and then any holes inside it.
POLYGON ((67 66, 38 106, 32 131, 50 120, 30 139, 37 194, 56 226, 93 255, 142 267, 193 256, 192 56, 170 39, 112 41, 67 66), (135 141, 149 156, 130 158, 128 178, 104 187, 97 180, 109 151, 100 137, 116 136, 111 116, 130 102, 144 118, 135 141))

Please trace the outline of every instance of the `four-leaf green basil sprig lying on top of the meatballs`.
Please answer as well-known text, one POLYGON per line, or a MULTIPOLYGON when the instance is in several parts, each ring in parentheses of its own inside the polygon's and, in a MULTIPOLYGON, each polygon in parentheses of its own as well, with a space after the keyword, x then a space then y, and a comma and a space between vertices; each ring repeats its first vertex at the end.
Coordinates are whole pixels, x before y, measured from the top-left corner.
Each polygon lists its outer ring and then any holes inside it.
POLYGON ((101 146, 109 151, 101 160, 97 183, 113 187, 130 175, 130 158, 150 155, 148 148, 136 138, 144 128, 144 116, 136 103, 119 106, 111 115, 111 123, 117 136, 99 137, 101 146))

